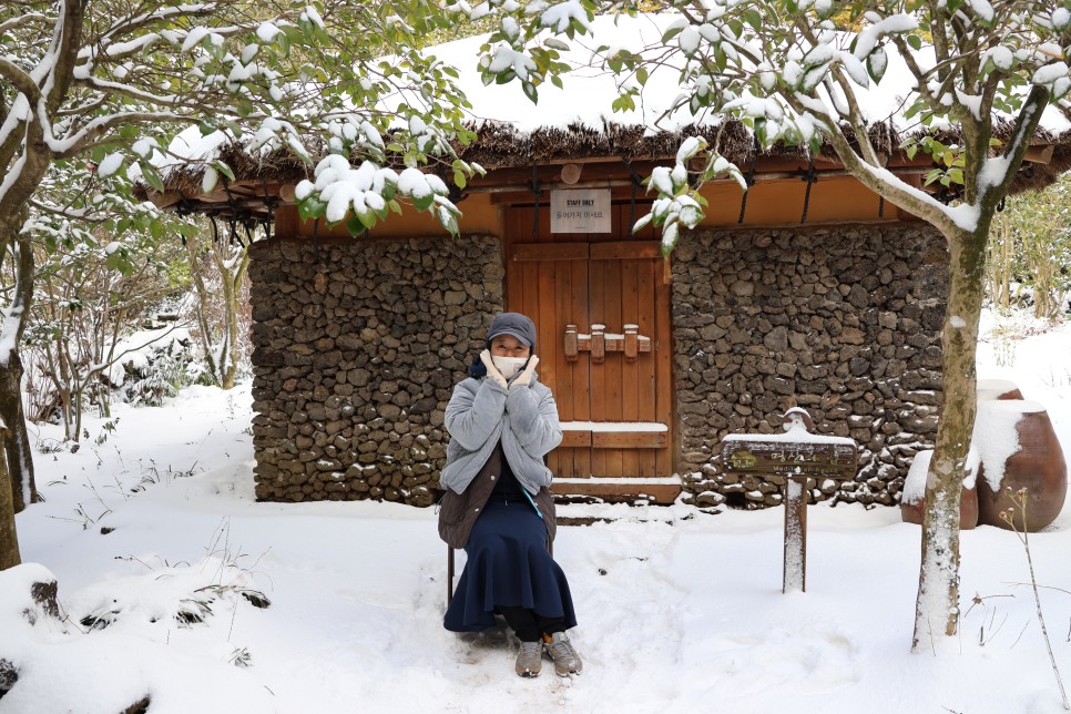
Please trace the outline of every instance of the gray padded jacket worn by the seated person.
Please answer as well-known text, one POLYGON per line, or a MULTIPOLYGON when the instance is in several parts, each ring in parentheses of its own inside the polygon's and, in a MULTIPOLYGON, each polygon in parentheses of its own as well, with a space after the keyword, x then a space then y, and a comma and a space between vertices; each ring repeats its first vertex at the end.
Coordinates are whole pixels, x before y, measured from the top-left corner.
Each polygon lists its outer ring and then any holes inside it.
POLYGON ((529 385, 512 388, 487 377, 465 379, 447 405, 446 428, 450 443, 439 475, 442 488, 463 493, 499 440, 513 476, 529 493, 550 486, 543 457, 561 443, 561 425, 554 396, 537 375, 529 385))

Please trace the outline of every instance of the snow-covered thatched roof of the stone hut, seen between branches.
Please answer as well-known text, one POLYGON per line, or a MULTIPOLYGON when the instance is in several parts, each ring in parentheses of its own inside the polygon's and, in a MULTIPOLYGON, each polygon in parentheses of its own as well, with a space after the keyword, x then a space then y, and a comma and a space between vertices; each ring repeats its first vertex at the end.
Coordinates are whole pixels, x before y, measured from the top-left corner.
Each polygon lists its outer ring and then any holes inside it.
MULTIPOLYGON (((595 22, 613 21, 614 34, 610 37, 614 38, 616 45, 629 47, 633 41, 661 38, 672 20, 670 14, 652 14, 634 19, 598 18, 595 22)), ((544 84, 540 88, 539 102, 532 104, 517 82, 483 85, 475 71, 475 58, 484 39, 466 38, 432 48, 430 52, 448 64, 472 68, 460 73, 458 85, 473 105, 472 114, 477 119, 471 128, 477 139, 468 146, 455 149, 462 159, 477 162, 492 173, 499 171, 499 183, 513 181, 521 167, 531 170, 533 165, 548 166, 568 161, 664 162, 673 157, 681 142, 691 135, 704 136, 714 151, 744 171, 748 167, 761 171, 763 163, 784 165, 786 160, 802 161, 804 167, 810 159, 816 163, 823 161, 827 171, 836 170, 835 165, 839 163, 828 144, 814 157, 808 156, 805 149, 793 146, 757 150, 753 134, 737 120, 713 115, 695 118, 686 108, 672 109, 676 106, 680 91, 672 68, 652 71, 634 110, 608 115, 606 110, 618 92, 615 78, 598 68, 584 67, 586 60, 579 59, 577 62, 581 67, 570 74, 563 89, 544 84)), ((917 155, 909 161, 898 150, 908 133, 920 131, 917 120, 904 115, 906 104, 902 98, 910 92, 911 81, 904 68, 898 70, 895 62, 890 62, 880 85, 860 90, 864 94, 860 102, 866 108, 870 141, 889 157, 890 167, 909 166, 926 172, 930 167, 926 156, 917 155)), ((998 137, 1007 137, 1009 133, 1010 124, 1001 124, 996 130, 998 137)), ((945 143, 957 141, 955 130, 945 130, 944 134, 945 143)), ((1071 169, 1071 122, 1054 110, 1050 109, 1043 115, 1042 129, 1033 143, 1037 149, 1020 171, 1012 191, 1044 187, 1071 169)), ((232 185, 234 191, 263 192, 296 183, 313 173, 312 166, 282 153, 253 156, 235 144, 217 146, 214 151, 213 157, 222 159, 234 170, 238 184, 232 185)), ((195 196, 202 193, 203 171, 198 164, 169 169, 165 185, 172 195, 163 203, 174 203, 175 195, 184 196, 186 203, 196 201, 195 196)), ((630 171, 621 166, 624 177, 630 171)), ((481 184, 486 186, 488 181, 494 178, 473 181, 470 190, 478 190, 481 184)), ((220 197, 210 203, 218 205, 220 197)))

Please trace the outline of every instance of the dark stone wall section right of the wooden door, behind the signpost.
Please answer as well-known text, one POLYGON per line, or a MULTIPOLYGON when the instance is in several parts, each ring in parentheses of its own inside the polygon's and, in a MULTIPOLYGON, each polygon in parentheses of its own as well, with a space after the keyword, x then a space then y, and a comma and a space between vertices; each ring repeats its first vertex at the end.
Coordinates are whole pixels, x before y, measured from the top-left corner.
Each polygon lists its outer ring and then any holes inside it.
POLYGON ((778 477, 721 469, 726 434, 815 431, 859 446, 854 481, 815 500, 890 504, 931 445, 941 400, 944 238, 920 223, 701 230, 673 255, 673 334, 685 490, 696 503, 781 502, 778 477))

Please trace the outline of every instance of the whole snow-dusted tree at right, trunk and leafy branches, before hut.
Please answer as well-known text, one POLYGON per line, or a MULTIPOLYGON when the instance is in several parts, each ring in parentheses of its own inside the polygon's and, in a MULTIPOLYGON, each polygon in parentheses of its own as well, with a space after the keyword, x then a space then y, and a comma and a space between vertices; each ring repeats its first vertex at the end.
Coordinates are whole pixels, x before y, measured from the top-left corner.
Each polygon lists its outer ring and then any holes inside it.
MULTIPOLYGON (((470 16, 501 12, 480 60, 486 82, 519 81, 536 101, 542 83, 569 81, 565 51, 584 38, 595 64, 619 76, 614 110, 633 109, 652 73, 659 71, 664 82, 672 68, 681 94, 671 110, 736 118, 766 147, 832 146, 849 174, 944 234, 951 261, 945 398, 927 480, 914 636, 915 649, 937 647, 947 641, 940 635, 956 632, 959 615, 959 504, 976 411, 986 245, 1042 114, 1071 116, 1071 3, 670 0, 667 6, 676 18, 661 39, 628 49, 612 31, 595 31, 592 20, 634 16, 640 12, 634 2, 536 0, 520 7, 489 0, 457 7, 470 16), (900 93, 902 103, 875 116, 868 102, 883 91, 900 93), (901 128, 915 122, 909 142, 880 146, 888 137, 881 130, 894 120, 901 128), (938 129, 942 133, 931 133, 938 129), (885 167, 884 156, 896 149, 932 155, 937 169, 928 181, 945 188, 945 201, 885 167)), ((718 173, 740 176, 718 155, 716 142, 687 140, 677 165, 652 175, 659 198, 642 220, 663 226, 666 249, 681 227, 703 217, 696 173, 688 175, 703 155, 698 182, 718 173)))

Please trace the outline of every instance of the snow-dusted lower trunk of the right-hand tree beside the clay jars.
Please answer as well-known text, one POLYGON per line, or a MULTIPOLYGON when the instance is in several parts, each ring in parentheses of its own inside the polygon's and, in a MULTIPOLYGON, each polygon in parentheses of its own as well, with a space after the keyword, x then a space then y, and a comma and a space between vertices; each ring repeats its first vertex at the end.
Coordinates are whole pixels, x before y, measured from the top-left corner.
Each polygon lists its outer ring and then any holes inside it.
POLYGON ((975 428, 978 323, 985 296, 989 225, 947 233, 951 254, 948 310, 941 339, 945 405, 926 484, 922 560, 911 649, 937 650, 959 624, 959 506, 975 428))

